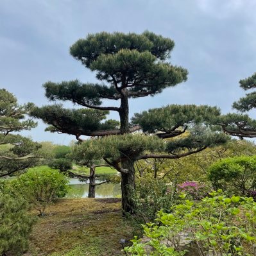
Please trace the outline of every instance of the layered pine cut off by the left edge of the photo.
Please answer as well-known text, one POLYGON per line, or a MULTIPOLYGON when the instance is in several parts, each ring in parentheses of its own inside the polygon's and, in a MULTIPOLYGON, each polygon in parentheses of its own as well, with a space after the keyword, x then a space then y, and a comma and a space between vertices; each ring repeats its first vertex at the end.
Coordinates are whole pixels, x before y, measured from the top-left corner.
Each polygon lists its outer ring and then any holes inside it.
POLYGON ((32 103, 19 105, 13 94, 0 89, 0 177, 11 175, 37 163, 40 145, 21 135, 12 134, 30 130, 37 123, 26 119, 32 103))

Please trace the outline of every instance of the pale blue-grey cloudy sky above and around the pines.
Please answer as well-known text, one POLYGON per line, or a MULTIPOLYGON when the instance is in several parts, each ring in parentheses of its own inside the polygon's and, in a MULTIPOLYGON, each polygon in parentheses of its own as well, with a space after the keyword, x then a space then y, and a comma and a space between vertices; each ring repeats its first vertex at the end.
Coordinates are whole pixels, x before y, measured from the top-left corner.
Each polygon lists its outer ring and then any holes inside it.
MULTIPOLYGON (((0 87, 20 103, 46 105, 46 81, 96 81, 69 55, 76 40, 149 30, 175 41, 170 61, 187 68, 189 78, 154 98, 133 100, 131 115, 171 103, 230 112, 244 95, 239 80, 256 71, 255 10, 255 0, 0 0, 0 87)), ((45 127, 39 122, 24 134, 58 144, 73 139, 45 127)))

